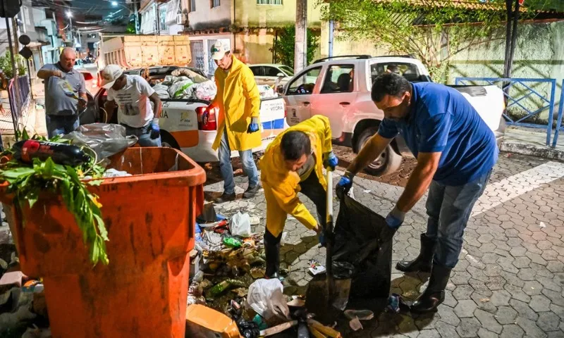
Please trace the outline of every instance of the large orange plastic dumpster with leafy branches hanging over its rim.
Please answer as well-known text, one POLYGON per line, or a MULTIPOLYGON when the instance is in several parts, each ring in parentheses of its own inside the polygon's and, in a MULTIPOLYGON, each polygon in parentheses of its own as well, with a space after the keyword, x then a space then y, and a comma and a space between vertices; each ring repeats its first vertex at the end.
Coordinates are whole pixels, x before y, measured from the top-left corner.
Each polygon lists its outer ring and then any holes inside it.
POLYGON ((59 196, 45 194, 20 211, 0 185, 22 271, 43 277, 55 338, 184 337, 204 170, 171 148, 130 148, 109 168, 133 176, 88 188, 99 195, 109 232, 109 265, 94 268, 59 196))

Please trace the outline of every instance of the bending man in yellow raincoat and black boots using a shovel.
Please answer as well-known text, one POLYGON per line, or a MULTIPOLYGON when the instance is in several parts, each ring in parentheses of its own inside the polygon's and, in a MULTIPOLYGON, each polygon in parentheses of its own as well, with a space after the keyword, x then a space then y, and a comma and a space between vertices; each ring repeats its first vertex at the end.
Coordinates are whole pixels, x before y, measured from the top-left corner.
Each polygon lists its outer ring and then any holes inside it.
POLYGON ((280 240, 288 214, 308 229, 322 234, 327 209, 323 166, 335 170, 338 163, 332 149, 329 119, 321 115, 288 128, 266 148, 260 160, 266 197, 265 277, 278 277, 280 240), (313 201, 319 222, 298 199, 298 192, 313 201))

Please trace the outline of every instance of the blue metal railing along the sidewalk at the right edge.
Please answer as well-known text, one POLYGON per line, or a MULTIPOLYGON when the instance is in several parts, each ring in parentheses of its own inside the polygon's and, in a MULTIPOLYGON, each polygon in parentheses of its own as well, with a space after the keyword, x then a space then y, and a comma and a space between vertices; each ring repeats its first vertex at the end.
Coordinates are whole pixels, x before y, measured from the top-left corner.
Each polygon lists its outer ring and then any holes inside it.
MULTIPOLYGON (((533 127, 533 128, 546 128, 546 145, 551 145, 551 137, 554 122, 554 106, 555 106, 555 96, 556 96, 556 79, 525 79, 525 78, 503 78, 503 77, 457 77, 455 84, 486 84, 486 85, 497 85, 501 88, 506 88, 505 98, 507 99, 507 110, 511 108, 520 108, 525 112, 525 116, 521 118, 516 118, 515 120, 511 118, 507 111, 503 114, 503 117, 507 121, 508 125, 517 125, 522 127, 533 127), (541 92, 540 89, 535 89, 539 85, 544 85, 546 89, 545 93, 541 92), (534 104, 525 104, 525 101, 534 101, 534 104), (548 120, 546 125, 537 123, 525 123, 523 121, 532 118, 533 116, 538 117, 541 113, 548 111, 548 120)), ((560 100, 562 101, 562 100, 560 100)), ((558 111, 557 119, 562 120, 562 105, 560 104, 560 110, 558 111)), ((556 146, 556 141, 558 140, 558 128, 557 123, 556 132, 554 134, 552 146, 556 146)))

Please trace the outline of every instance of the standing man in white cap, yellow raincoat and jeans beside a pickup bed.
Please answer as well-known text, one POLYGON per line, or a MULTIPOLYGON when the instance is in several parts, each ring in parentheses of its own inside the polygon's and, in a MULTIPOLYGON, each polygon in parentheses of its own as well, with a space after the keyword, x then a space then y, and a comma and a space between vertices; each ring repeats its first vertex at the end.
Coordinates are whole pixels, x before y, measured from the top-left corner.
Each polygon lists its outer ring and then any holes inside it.
POLYGON ((252 158, 252 149, 260 146, 260 94, 255 75, 239 61, 225 44, 212 46, 212 58, 218 68, 215 73, 217 94, 212 106, 219 107, 217 137, 212 146, 219 148, 219 170, 223 177, 223 194, 217 203, 235 200, 235 180, 231 165, 231 151, 239 151, 243 173, 249 186, 243 194, 251 198, 259 190, 259 173, 252 158))

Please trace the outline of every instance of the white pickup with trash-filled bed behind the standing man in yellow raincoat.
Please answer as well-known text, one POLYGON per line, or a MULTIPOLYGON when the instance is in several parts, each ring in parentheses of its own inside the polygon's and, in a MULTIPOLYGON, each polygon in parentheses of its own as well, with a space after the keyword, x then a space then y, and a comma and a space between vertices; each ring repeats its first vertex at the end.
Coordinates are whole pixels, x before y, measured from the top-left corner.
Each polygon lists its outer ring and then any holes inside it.
MULTIPOLYGON (((171 70, 172 71, 172 70, 171 70)), ((128 70, 132 73, 135 70, 128 70)), ((155 77, 164 77, 159 70, 152 70, 155 77)), ((149 76, 149 83, 154 82, 149 76)), ((88 104, 88 112, 81 117, 81 124, 106 122, 106 89, 100 88, 88 104)), ((162 99, 163 111, 159 124, 161 127, 161 141, 163 146, 179 149, 200 163, 218 161, 217 151, 212 144, 217 135, 217 108, 209 108, 210 101, 199 99, 162 99)), ((108 123, 117 123, 117 113, 114 112, 108 123)), ((281 96, 262 99, 260 106, 260 120, 262 145, 253 149, 255 152, 264 151, 280 132, 286 130, 284 100, 281 96)), ((232 156, 239 156, 233 151, 232 156)))

